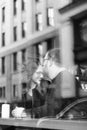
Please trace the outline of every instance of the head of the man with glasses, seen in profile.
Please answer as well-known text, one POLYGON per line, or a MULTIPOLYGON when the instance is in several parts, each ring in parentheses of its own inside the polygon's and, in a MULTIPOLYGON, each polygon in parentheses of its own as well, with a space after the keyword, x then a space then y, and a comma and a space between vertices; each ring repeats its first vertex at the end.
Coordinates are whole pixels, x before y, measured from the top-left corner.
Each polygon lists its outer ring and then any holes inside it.
POLYGON ((49 78, 54 78, 61 68, 60 49, 54 48, 48 51, 44 57, 43 71, 49 78))

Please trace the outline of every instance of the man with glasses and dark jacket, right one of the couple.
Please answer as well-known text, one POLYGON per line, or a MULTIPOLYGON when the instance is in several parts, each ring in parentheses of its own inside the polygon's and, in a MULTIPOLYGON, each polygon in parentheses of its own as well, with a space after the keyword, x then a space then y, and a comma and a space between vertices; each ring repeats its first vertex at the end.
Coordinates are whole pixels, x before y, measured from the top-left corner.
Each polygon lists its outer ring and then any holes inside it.
POLYGON ((51 79, 48 87, 46 102, 47 116, 56 116, 63 107, 63 99, 78 97, 79 81, 66 67, 61 64, 60 49, 48 51, 44 57, 43 73, 51 79))

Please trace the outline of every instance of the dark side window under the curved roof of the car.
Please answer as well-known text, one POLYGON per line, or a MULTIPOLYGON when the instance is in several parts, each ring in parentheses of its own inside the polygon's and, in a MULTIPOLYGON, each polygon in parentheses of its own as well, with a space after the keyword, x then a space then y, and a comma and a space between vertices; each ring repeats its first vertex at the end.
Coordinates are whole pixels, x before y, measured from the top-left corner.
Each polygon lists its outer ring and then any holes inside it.
POLYGON ((71 109, 66 111, 63 116, 63 119, 87 119, 87 102, 78 103, 73 106, 71 109))

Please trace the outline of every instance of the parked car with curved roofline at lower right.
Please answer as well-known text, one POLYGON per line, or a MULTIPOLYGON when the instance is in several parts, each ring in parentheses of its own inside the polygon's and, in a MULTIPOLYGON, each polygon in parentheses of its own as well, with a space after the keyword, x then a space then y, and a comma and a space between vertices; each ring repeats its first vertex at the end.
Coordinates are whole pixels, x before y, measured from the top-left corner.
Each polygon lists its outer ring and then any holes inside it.
POLYGON ((56 118, 66 120, 87 120, 87 98, 77 99, 69 104, 56 115, 56 118))

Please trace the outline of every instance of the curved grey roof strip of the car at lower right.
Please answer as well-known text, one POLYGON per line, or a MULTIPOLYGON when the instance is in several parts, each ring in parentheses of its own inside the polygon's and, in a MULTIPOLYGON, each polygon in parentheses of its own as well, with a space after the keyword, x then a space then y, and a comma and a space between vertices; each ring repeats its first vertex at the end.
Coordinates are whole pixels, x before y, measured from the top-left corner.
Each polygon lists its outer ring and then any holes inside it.
POLYGON ((80 99, 77 99, 76 101, 72 102, 71 104, 69 104, 67 107, 65 107, 60 113, 58 113, 56 115, 56 117, 61 117, 66 111, 68 111, 69 109, 71 109, 73 106, 75 106, 76 104, 78 103, 81 103, 81 102, 85 102, 87 101, 87 98, 80 98, 80 99))

